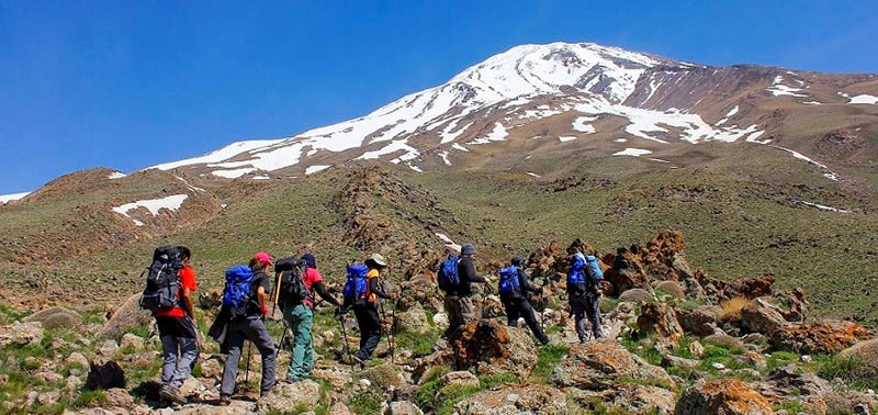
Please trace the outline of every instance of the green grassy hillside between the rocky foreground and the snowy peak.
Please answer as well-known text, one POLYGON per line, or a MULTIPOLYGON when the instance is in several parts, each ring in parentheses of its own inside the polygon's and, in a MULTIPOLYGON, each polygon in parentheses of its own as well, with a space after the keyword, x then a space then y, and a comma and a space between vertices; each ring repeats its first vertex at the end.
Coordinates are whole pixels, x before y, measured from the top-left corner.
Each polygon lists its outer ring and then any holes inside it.
MULTIPOLYGON (((153 247, 165 243, 192 247, 202 287, 218 287, 226 267, 261 249, 282 256, 308 247, 324 273, 340 280, 344 265, 368 250, 382 251, 392 263, 420 260, 421 249, 441 249, 437 232, 473 242, 484 262, 575 237, 609 251, 673 228, 684 233, 694 267, 727 280, 774 272, 780 287, 804 287, 818 313, 875 323, 878 215, 868 187, 852 191, 845 181, 830 181, 766 146, 675 146, 655 157, 671 162, 498 156, 493 169, 479 171, 334 168, 306 178, 232 184, 214 191, 227 206, 206 222, 57 263, 3 262, 0 287, 9 295, 26 281, 53 301, 71 303, 69 293, 81 292, 110 302, 114 293, 139 290, 139 270, 153 247), (553 173, 536 178, 528 171, 553 173), (389 236, 363 245, 352 227, 389 236), (98 294, 108 290, 106 282, 111 294, 98 294)), ((69 203, 75 210, 77 202, 69 203)), ((0 209, 0 223, 36 221, 24 227, 52 228, 63 218, 49 205, 0 209)), ((4 226, 16 233, 23 225, 4 226)))

